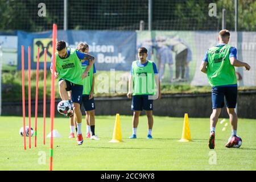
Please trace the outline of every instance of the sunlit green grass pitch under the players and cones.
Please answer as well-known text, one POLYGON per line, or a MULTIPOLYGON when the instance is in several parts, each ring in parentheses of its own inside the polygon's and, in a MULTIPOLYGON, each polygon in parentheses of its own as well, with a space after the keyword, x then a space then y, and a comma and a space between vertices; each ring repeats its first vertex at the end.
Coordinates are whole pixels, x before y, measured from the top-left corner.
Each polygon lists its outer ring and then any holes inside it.
MULTIPOLYGON (((208 148, 209 118, 189 118, 192 142, 177 142, 181 138, 183 118, 156 117, 152 136, 147 140, 147 118, 139 118, 137 139, 131 135, 131 116, 121 115, 123 143, 109 143, 112 139, 115 116, 96 116, 96 134, 101 140, 84 138, 78 146, 69 139, 69 119, 55 118, 54 128, 61 138, 54 139, 53 170, 255 170, 256 120, 239 119, 238 135, 241 148, 225 148, 230 126, 219 120, 216 127, 216 147, 208 148), (216 159, 214 160, 213 159, 216 159), (216 157, 216 158, 215 158, 216 157), (215 162, 214 162, 215 161, 215 162)), ((38 147, 23 149, 19 135, 22 117, 0 117, 0 170, 49 170, 49 138, 43 146, 43 119, 38 119, 38 147), (44 155, 45 154, 45 155, 44 155), (46 156, 46 164, 44 164, 46 156)), ((34 118, 31 119, 34 128, 34 118)), ((28 125, 28 119, 26 118, 28 125)), ((49 118, 47 118, 47 134, 49 118)), ((85 135, 85 121, 82 129, 85 135)), ((84 136, 85 137, 85 136, 84 136)))

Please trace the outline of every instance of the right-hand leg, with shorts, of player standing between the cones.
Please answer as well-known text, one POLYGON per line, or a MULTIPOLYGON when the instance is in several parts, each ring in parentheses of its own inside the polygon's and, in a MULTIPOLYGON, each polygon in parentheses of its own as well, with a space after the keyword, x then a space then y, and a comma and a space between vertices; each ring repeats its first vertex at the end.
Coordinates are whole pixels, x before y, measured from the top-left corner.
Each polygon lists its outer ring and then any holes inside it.
POLYGON ((147 114, 147 123, 148 123, 148 131, 147 131, 147 139, 152 139, 152 128, 153 128, 153 100, 148 99, 148 96, 143 96, 143 109, 146 110, 147 114))

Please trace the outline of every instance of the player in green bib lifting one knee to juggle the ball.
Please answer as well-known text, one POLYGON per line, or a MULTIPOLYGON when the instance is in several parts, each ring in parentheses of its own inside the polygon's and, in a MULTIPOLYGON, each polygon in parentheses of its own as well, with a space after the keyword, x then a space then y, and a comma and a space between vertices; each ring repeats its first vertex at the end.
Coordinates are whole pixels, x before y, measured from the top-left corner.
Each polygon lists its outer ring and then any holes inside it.
MULTIPOLYGON (((55 79, 59 78, 59 93, 62 100, 69 100, 68 91, 71 90, 74 117, 77 122, 77 143, 81 145, 82 138, 82 101, 83 81, 94 63, 94 57, 77 49, 69 48, 63 40, 56 44, 56 71, 55 79), (82 71, 81 60, 89 60, 89 65, 82 71)), ((53 69, 51 66, 51 72, 53 69)))

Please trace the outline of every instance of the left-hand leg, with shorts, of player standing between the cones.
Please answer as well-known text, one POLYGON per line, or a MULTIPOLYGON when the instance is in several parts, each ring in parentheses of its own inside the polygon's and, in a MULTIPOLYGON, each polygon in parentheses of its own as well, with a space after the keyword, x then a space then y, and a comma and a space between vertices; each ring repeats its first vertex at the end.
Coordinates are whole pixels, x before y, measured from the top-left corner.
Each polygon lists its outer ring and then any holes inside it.
POLYGON ((137 138, 137 127, 139 125, 139 115, 142 111, 142 96, 133 96, 133 100, 131 101, 131 110, 133 110, 133 135, 131 135, 131 139, 137 138))

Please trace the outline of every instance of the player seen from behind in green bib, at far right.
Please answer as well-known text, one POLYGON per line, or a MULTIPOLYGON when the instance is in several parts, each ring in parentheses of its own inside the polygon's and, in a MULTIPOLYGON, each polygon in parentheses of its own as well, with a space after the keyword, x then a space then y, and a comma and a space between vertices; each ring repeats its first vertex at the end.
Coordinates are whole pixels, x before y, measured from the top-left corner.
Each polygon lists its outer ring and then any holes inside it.
MULTIPOLYGON (((211 47, 205 53, 201 63, 201 72, 207 73, 208 81, 212 86, 212 115, 210 115, 210 138, 209 148, 215 146, 215 127, 218 117, 224 107, 224 96, 229 114, 229 121, 232 127, 232 138, 237 135, 237 114, 235 111, 237 104, 237 76, 234 67, 245 67, 250 70, 250 65, 237 60, 237 49, 230 46, 230 32, 221 30, 218 34, 217 46, 211 47)), ((230 148, 234 145, 234 139, 226 143, 230 148)))

